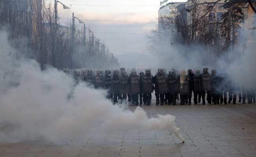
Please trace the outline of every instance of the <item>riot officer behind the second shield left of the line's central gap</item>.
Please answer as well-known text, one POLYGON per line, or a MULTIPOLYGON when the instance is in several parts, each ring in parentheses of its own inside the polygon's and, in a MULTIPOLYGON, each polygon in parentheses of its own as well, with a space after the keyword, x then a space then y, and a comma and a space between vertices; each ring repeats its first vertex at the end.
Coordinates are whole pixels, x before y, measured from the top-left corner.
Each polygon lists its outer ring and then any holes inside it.
POLYGON ((132 104, 139 105, 139 94, 141 93, 141 86, 139 76, 137 75, 137 71, 132 69, 132 73, 129 78, 130 86, 131 86, 131 98, 132 104))

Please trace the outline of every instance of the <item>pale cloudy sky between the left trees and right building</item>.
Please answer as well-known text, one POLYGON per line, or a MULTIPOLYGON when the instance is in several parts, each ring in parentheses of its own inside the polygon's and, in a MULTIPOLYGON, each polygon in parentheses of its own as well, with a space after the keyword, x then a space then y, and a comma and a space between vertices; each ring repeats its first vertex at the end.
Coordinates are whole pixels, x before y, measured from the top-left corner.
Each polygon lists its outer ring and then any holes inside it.
MULTIPOLYGON (((94 31, 96 37, 106 43, 114 55, 148 53, 146 35, 157 24, 160 0, 59 1, 71 8, 64 10, 58 4, 61 24, 71 22, 74 12, 94 31)), ((54 0, 48 2, 54 4, 54 0)))

